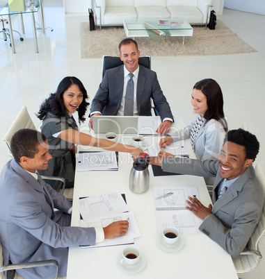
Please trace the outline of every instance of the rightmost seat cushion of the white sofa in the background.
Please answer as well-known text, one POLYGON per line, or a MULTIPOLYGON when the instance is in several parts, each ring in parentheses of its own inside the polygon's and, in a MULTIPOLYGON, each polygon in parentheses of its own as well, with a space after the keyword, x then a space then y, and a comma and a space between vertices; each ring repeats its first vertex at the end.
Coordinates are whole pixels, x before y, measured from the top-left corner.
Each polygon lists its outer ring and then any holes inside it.
POLYGON ((168 6, 171 19, 184 17, 189 24, 200 24, 203 19, 202 12, 197 7, 191 6, 168 6))

